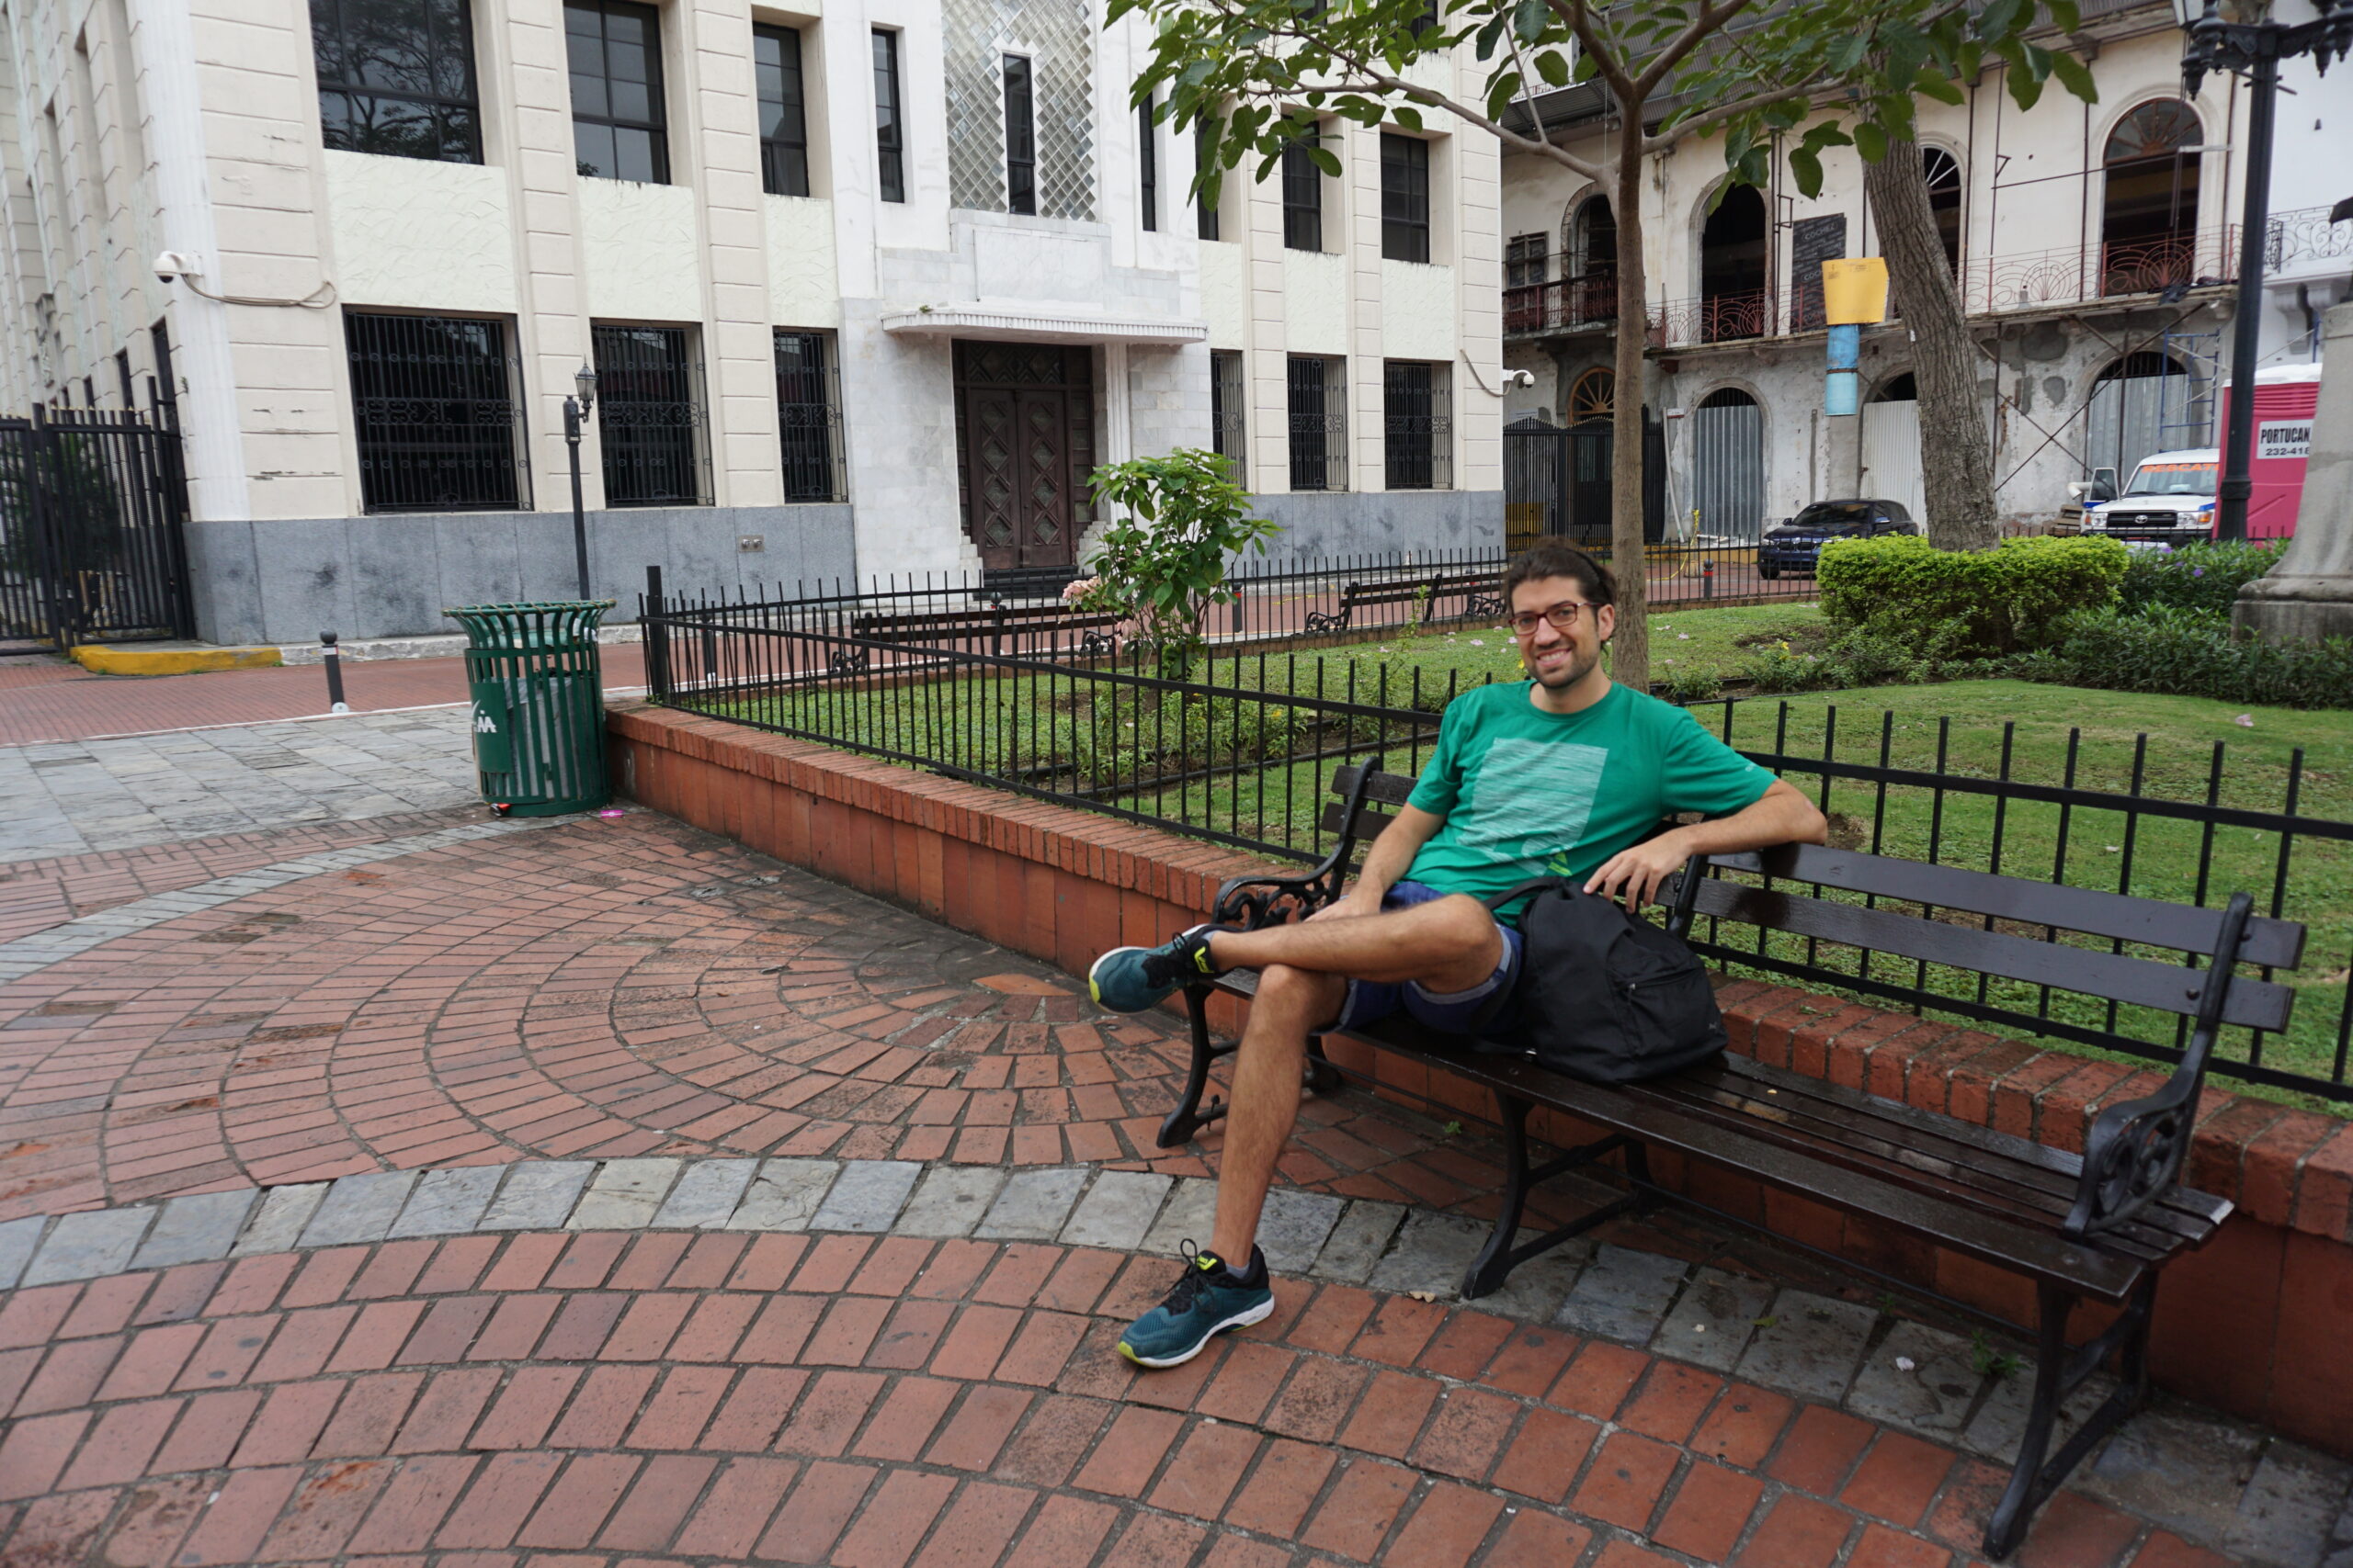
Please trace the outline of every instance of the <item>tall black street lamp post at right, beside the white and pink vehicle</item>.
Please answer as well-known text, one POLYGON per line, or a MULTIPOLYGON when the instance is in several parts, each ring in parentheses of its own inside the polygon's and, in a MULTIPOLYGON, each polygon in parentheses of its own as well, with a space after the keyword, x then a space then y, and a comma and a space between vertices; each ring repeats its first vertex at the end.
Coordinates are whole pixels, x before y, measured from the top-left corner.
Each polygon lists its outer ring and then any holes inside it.
POLYGON ((2174 0, 2174 21, 2188 33, 2181 52, 2181 92, 2195 99, 2207 71, 2245 71, 2247 200, 2238 226, 2238 310, 2231 322, 2231 423, 2221 440, 2221 487, 2214 536, 2247 538, 2247 496, 2254 494, 2254 362, 2264 327, 2264 235, 2271 223, 2271 122, 2280 96, 2280 61, 2311 54, 2320 71, 2353 54, 2353 0, 2313 0, 2313 21, 2273 21, 2271 0, 2240 0, 2242 21, 2224 21, 2219 0, 2174 0))

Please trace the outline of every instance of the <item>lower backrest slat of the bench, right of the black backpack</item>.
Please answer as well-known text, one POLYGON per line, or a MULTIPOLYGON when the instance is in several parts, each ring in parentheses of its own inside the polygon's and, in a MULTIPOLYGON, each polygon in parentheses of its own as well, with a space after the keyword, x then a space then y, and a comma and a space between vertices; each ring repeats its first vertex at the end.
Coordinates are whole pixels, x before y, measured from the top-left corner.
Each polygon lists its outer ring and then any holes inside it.
MULTIPOLYGON (((1718 877, 1699 884, 1694 907, 1701 914, 1737 919, 1779 933, 1871 947, 1892 957, 1972 969, 2005 980, 2049 985, 2082 997, 2099 997, 2101 1001, 2125 1001, 2167 1013, 2195 1013, 2198 997, 2207 985, 2207 971, 2202 969, 2129 959, 2089 947, 2066 947, 2026 936, 1979 931, 1977 926, 1951 926, 1920 919, 1918 914, 1866 910, 1852 903, 1767 891, 1718 877)), ((2294 990, 2287 985, 2240 976, 2231 983, 2224 1001, 2224 1023, 2282 1030, 2294 1009, 2294 990)))

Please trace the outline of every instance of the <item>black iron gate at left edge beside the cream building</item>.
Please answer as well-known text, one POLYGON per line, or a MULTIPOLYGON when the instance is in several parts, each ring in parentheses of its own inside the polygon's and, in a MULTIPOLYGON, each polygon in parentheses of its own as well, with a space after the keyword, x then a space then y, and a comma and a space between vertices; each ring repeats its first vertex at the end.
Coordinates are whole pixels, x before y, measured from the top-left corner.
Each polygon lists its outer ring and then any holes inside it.
POLYGON ((169 404, 0 418, 0 646, 193 637, 186 515, 169 404))

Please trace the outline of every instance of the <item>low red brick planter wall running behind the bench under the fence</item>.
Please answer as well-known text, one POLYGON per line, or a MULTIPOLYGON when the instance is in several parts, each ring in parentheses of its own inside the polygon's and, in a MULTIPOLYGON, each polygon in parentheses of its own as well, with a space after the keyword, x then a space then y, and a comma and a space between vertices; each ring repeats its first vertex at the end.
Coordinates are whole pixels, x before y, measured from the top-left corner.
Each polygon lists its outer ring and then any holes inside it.
MULTIPOLYGON (((624 795, 1071 973, 1104 947, 1202 919, 1226 877, 1271 870, 1214 844, 718 719, 624 705, 609 731, 624 795)), ((1734 1051, 2064 1150, 2082 1147, 2104 1105, 2162 1081, 1784 985, 1734 980, 1720 997, 1734 1051)), ((1219 1027, 1238 1027, 1238 1016, 1219 1027)), ((1492 1119, 1487 1093, 1442 1070, 1341 1039, 1332 1056, 1384 1093, 1492 1119)), ((2033 1321, 2033 1291, 2012 1274, 1706 1168, 1657 1171, 1786 1237, 2033 1321)), ((2238 1215, 2165 1272, 2158 1380, 2353 1455, 2353 1124, 2209 1088, 2188 1175, 2231 1197, 2238 1215)))

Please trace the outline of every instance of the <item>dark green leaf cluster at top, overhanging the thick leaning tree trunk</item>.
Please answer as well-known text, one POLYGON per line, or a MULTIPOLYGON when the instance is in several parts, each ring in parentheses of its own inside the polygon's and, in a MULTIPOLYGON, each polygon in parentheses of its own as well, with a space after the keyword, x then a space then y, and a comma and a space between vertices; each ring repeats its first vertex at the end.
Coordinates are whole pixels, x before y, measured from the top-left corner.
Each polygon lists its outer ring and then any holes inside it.
POLYGON ((2047 49, 2033 33, 2073 33, 2073 0, 1991 0, 1981 7, 1944 0, 1814 0, 1769 12, 1744 28, 1739 47, 1711 49, 1675 78, 1689 108, 1678 122, 1725 134, 1732 179, 1765 186, 1774 139, 1788 148, 1791 176, 1807 197, 1821 195, 1821 153, 1852 146, 1880 162, 1889 143, 1915 141, 1920 99, 1960 103, 1960 82, 1986 63, 2002 63, 2002 82, 2019 108, 2033 108, 2042 87, 2061 87, 2097 103, 2092 71, 2066 49, 2047 49), (1772 82, 1758 89, 1758 82, 1772 82), (1824 101, 1824 89, 1840 87, 1824 101), (1805 125, 1802 134, 1791 136, 1805 125))

